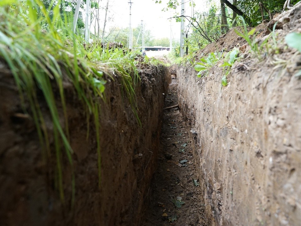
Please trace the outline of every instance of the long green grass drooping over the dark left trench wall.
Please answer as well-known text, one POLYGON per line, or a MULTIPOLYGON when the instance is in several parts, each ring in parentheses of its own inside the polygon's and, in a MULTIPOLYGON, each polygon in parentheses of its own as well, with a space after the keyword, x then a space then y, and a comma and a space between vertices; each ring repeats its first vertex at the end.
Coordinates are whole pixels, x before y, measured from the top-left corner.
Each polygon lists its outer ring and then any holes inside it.
MULTIPOLYGON (((53 7, 53 17, 45 9, 41 0, 28 0, 22 5, 17 1, 0 2, 0 60, 6 62, 13 74, 21 101, 30 104, 30 114, 37 128, 42 156, 45 162, 56 157, 56 182, 63 206, 66 206, 63 186, 63 156, 66 156, 72 169, 71 206, 75 199, 75 175, 72 160, 73 150, 69 143, 68 118, 63 80, 71 82, 77 96, 87 110, 96 127, 98 153, 98 183, 101 183, 101 150, 99 143, 99 113, 101 100, 105 100, 106 80, 104 74, 112 79, 118 78, 122 89, 137 118, 138 109, 135 86, 140 80, 134 64, 135 52, 125 54, 123 50, 102 49, 92 46, 86 49, 84 40, 71 32, 70 20, 60 15, 60 1, 53 7), (44 28, 47 27, 48 31, 44 28), (59 90, 61 106, 65 116, 63 129, 59 122, 53 87, 59 90), (51 153, 49 131, 37 97, 37 89, 43 93, 53 122, 55 153, 51 153), (98 98, 97 98, 98 97, 98 98), (63 152, 62 152, 63 150, 63 152), (64 154, 65 153, 65 154, 64 154)), ((50 7, 51 8, 51 7, 50 7)), ((24 107, 24 111, 26 111, 24 107)), ((88 136, 88 134, 87 134, 88 136)))

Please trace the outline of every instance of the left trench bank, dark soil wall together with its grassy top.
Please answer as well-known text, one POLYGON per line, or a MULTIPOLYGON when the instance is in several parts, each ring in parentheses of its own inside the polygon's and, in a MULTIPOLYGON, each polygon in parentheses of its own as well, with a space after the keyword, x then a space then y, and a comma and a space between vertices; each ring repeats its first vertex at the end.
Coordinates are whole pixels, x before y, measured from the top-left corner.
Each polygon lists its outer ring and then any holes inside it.
POLYGON ((0 225, 139 225, 169 69, 83 44, 60 4, 2 5, 0 225))

